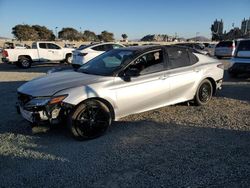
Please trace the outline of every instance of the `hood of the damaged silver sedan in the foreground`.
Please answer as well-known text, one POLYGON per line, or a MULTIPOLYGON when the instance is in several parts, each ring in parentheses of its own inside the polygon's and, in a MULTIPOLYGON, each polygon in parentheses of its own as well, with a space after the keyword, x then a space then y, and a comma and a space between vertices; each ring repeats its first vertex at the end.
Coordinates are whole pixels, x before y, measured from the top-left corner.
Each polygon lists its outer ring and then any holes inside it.
POLYGON ((102 81, 102 76, 75 71, 62 71, 35 78, 18 88, 18 92, 38 96, 52 96, 58 91, 102 81))

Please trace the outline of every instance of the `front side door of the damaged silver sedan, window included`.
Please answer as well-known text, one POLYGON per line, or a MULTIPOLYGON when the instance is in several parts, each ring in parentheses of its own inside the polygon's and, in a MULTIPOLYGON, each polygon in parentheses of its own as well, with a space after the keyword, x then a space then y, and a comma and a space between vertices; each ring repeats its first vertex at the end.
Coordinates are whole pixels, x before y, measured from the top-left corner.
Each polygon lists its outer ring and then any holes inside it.
POLYGON ((125 70, 138 70, 138 75, 115 78, 118 116, 164 106, 168 102, 169 81, 165 77, 166 62, 163 50, 142 54, 125 70))

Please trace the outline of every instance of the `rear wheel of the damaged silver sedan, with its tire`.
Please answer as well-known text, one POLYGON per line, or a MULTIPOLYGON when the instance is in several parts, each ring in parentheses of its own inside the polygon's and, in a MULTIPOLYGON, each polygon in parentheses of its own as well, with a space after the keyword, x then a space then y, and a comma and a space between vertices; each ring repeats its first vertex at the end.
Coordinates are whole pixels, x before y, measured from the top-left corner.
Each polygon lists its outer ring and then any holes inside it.
POLYGON ((212 95, 213 95, 212 83, 208 79, 205 79, 198 86, 194 102, 197 106, 206 105, 211 100, 212 95))

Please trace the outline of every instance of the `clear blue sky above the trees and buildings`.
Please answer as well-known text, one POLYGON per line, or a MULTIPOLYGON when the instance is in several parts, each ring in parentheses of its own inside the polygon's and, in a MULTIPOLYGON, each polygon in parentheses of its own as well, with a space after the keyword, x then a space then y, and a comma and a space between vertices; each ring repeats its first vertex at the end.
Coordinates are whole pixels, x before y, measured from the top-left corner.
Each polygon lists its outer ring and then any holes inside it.
POLYGON ((79 31, 113 32, 116 39, 147 34, 190 38, 211 37, 215 19, 224 30, 240 27, 250 17, 250 0, 0 0, 0 36, 13 37, 17 24, 43 25, 55 32, 63 27, 79 31))

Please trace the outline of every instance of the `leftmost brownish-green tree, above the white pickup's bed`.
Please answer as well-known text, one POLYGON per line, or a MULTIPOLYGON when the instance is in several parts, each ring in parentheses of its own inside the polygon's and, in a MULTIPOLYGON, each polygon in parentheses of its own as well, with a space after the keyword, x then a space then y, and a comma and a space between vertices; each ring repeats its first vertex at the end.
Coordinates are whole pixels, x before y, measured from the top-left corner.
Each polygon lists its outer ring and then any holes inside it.
POLYGON ((12 28, 12 34, 17 40, 37 40, 37 31, 30 25, 16 25, 12 28))

